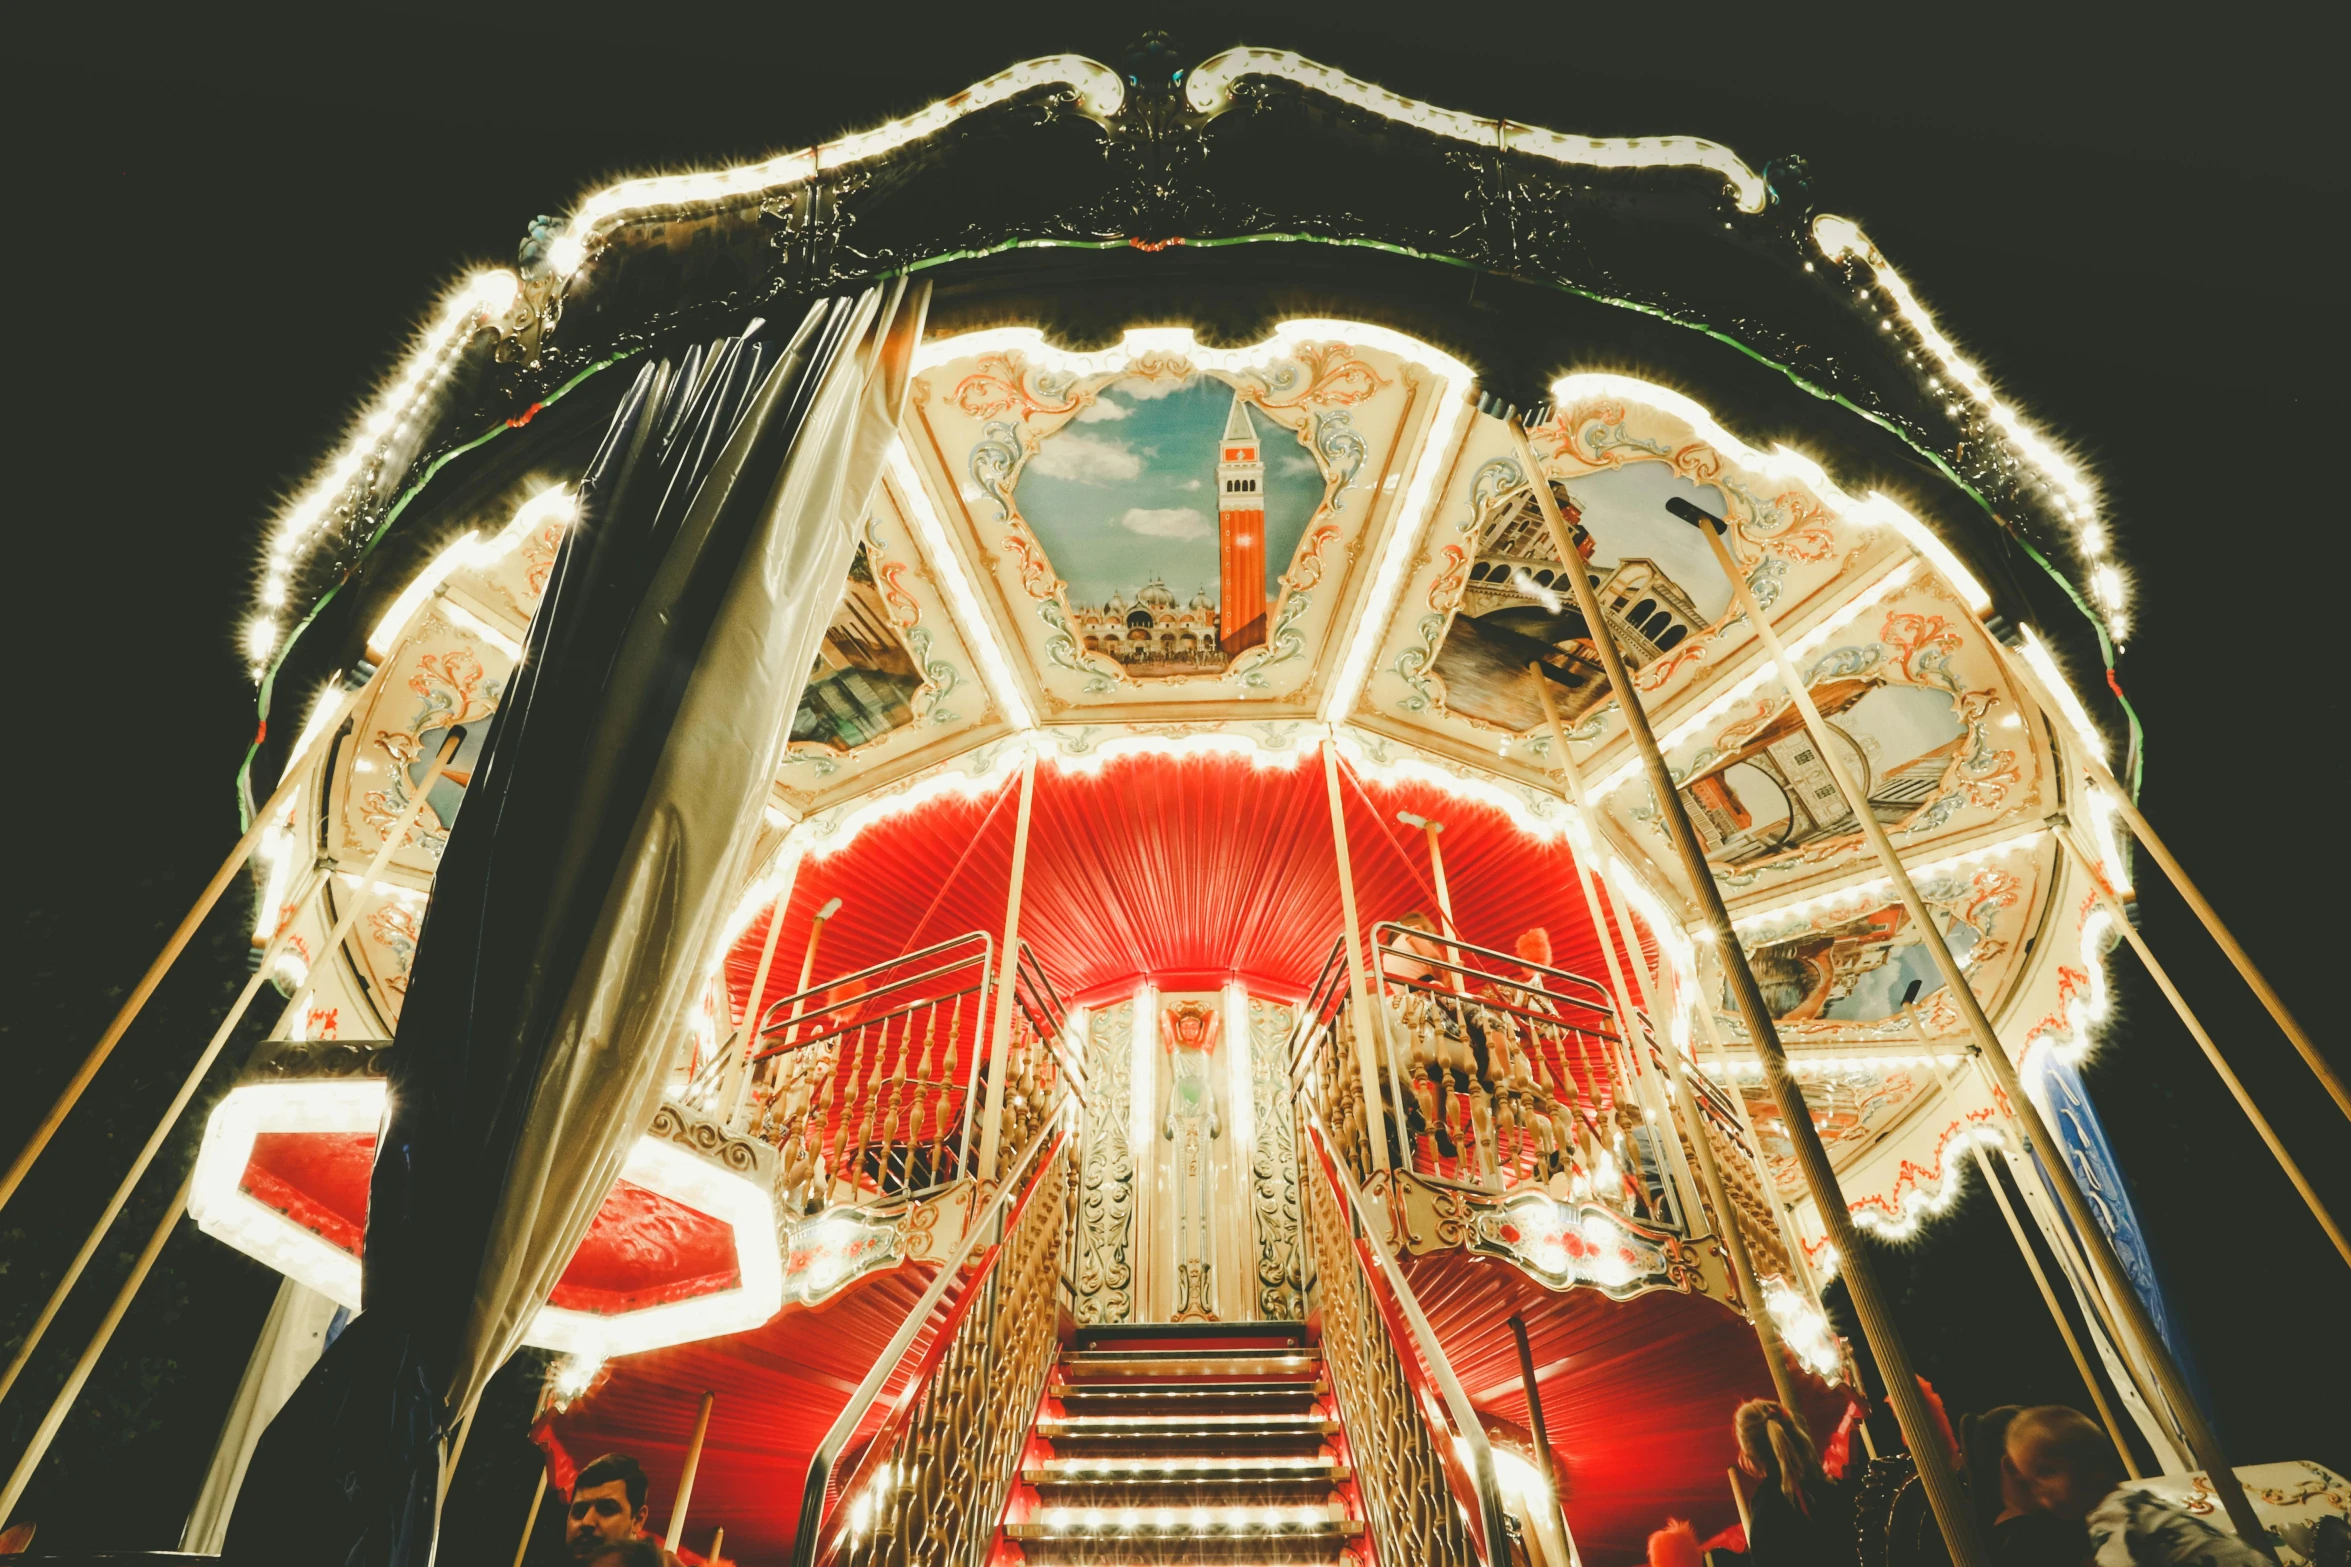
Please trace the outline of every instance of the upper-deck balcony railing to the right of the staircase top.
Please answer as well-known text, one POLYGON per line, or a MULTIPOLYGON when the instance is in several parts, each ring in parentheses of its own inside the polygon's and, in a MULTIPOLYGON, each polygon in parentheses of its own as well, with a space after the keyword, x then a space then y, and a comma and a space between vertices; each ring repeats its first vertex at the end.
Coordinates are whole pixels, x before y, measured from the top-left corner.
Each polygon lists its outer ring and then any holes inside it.
POLYGON ((1542 1186, 1688 1233, 1679 1149, 1655 1132, 1599 982, 1399 923, 1373 928, 1371 982, 1378 1104, 1364 1104, 1349 1069, 1340 942, 1291 1041, 1293 1081, 1312 1057, 1326 1067, 1319 1109, 1357 1179, 1371 1177, 1380 1139, 1427 1179, 1498 1196, 1542 1186))

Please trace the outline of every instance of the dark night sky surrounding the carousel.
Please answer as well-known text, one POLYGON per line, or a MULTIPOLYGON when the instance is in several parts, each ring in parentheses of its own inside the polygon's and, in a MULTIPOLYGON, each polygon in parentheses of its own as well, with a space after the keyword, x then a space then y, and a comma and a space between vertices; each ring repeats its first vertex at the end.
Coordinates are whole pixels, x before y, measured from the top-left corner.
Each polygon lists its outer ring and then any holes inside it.
MULTIPOLYGON (((1117 61, 1145 28, 1171 28, 1187 59, 1281 45, 1476 113, 1712 136, 1756 167, 1803 153, 1820 207, 1857 216, 2104 484, 2137 583, 2121 681, 2149 731, 2144 806, 2351 1067, 2325 980, 2344 928, 2325 756, 2342 721, 2346 148, 2318 78, 2337 42, 2316 33, 2323 7, 2208 9, 2193 28, 2118 7, 835 9, 12 14, 0 1146, 235 836, 254 728, 235 627, 261 524, 449 277, 510 261, 534 211, 609 176, 804 146, 1032 54, 1117 61)), ((2142 872, 2146 935, 2351 1215, 2351 1130, 2142 872)), ((0 1215, 0 1341, 245 980, 247 902, 240 886, 0 1215)), ((2088 1078, 2224 1440, 2238 1461, 2351 1471, 2351 1271, 2128 951, 2111 973, 2121 1010, 2088 1078)), ((242 1041, 216 1078, 237 1060, 242 1041)), ((200 1111, 0 1410, 0 1461, 193 1158, 200 1111)), ((1972 1177, 1881 1262, 1954 1412, 2085 1407, 1972 1177)), ((42 1546, 176 1541, 273 1287, 181 1226, 19 1508, 42 1546)), ((527 1450, 482 1440, 444 1560, 508 1560, 527 1494, 527 1450), (498 1522, 477 1534, 473 1508, 498 1522)))

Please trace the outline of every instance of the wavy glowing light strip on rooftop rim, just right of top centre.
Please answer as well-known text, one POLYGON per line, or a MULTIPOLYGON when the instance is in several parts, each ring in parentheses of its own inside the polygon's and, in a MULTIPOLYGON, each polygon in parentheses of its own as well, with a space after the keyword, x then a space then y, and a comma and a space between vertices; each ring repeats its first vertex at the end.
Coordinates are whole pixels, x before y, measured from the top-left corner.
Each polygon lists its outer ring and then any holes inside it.
POLYGON ((1396 120, 1472 146, 1533 153, 1552 162, 1596 169, 1712 169, 1737 195, 1740 211, 1763 211, 1763 202, 1768 200, 1763 176, 1749 169, 1737 153, 1714 141, 1700 141, 1697 136, 1561 136, 1540 125, 1481 120, 1455 108, 1408 99, 1373 82, 1361 82, 1345 70, 1333 70, 1288 49, 1244 47, 1213 54, 1192 68, 1185 82, 1185 101, 1192 113, 1220 113, 1232 103, 1232 82, 1244 75, 1274 75, 1366 108, 1382 120, 1396 120))

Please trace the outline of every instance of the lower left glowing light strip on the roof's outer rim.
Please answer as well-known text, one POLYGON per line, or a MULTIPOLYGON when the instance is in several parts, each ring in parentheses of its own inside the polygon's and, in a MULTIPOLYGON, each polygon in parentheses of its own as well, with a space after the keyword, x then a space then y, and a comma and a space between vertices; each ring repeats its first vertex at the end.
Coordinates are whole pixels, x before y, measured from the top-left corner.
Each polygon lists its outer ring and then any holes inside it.
POLYGON ((360 479, 369 460, 390 458, 393 442, 409 435, 428 416, 433 395, 456 366, 456 355, 482 324, 494 324, 513 312, 522 280, 513 273, 477 273, 468 277, 440 308, 433 324, 418 336, 400 376, 383 388, 341 451, 320 475, 284 507, 270 526, 270 545, 259 611, 245 625, 245 653, 254 679, 261 679, 268 655, 277 651, 282 627, 277 611, 287 606, 287 590, 299 554, 315 547, 320 531, 331 522, 336 503, 360 479))

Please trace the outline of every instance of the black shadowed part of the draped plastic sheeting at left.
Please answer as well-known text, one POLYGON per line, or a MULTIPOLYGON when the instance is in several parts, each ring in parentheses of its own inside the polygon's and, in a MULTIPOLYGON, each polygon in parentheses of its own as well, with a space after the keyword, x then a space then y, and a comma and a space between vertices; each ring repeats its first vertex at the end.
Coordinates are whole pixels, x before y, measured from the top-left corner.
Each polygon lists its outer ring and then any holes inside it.
POLYGON ((581 522, 451 829, 402 1008, 367 1222, 364 1311, 270 1424, 228 1560, 423 1565, 442 1407, 508 1175, 574 973, 712 620, 853 305, 792 338, 752 322, 637 371, 581 482, 581 522), (769 385, 783 376, 781 385, 769 385), (684 533, 745 430, 717 519, 684 533), (691 561, 672 552, 691 550, 691 561), (684 566, 684 569, 679 569, 684 566), (649 663, 623 646, 658 648, 649 663), (623 735, 623 745, 609 745, 623 735))

